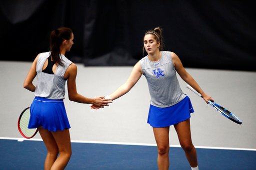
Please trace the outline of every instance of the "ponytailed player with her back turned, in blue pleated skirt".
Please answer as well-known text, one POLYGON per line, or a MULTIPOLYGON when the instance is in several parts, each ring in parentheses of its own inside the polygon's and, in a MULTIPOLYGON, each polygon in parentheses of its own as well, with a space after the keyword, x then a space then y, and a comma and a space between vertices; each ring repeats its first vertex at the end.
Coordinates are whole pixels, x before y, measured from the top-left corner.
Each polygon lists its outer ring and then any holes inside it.
POLYGON ((61 27, 50 34, 50 51, 37 55, 23 87, 34 92, 28 128, 37 128, 47 148, 44 170, 63 170, 71 156, 69 122, 63 99, 67 80, 68 98, 78 103, 108 106, 102 97, 86 98, 76 91, 77 67, 64 55, 73 44, 71 29, 61 27), (36 87, 32 84, 37 76, 36 87), (59 154, 59 156, 58 156, 59 154))

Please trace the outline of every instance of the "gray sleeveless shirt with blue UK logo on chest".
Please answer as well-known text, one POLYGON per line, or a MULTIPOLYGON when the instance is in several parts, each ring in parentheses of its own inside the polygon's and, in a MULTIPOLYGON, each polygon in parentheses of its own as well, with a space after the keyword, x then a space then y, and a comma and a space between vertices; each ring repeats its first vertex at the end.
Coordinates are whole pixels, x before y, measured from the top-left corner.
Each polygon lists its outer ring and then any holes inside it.
POLYGON ((186 95, 180 89, 170 51, 160 52, 159 61, 150 61, 145 56, 139 63, 148 84, 150 104, 165 108, 180 102, 186 95))

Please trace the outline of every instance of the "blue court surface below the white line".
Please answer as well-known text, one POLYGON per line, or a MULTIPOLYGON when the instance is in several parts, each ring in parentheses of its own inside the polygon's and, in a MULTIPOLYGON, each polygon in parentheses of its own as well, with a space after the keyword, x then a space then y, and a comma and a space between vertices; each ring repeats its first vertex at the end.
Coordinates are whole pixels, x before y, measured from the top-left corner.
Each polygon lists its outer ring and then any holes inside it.
MULTIPOLYGON (((71 143, 65 170, 157 170, 155 146, 71 143)), ((42 141, 0 139, 0 170, 43 170, 42 141)), ((196 149, 200 170, 256 170, 256 151, 196 149)), ((183 150, 171 147, 170 170, 190 170, 183 150)))

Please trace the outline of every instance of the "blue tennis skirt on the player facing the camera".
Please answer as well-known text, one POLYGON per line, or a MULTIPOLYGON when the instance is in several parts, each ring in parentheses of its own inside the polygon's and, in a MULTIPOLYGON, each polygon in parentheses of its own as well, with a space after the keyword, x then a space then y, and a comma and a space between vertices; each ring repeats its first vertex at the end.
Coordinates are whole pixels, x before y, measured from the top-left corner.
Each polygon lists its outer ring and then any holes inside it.
POLYGON ((183 122, 190 118, 193 107, 188 96, 177 104, 158 108, 150 105, 147 123, 154 128, 162 128, 183 122))

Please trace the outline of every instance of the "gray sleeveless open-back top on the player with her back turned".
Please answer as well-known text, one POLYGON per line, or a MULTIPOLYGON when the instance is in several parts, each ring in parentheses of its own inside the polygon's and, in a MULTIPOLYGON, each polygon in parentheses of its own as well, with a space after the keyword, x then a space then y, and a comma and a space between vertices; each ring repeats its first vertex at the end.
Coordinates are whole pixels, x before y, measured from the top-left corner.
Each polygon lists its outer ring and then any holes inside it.
POLYGON ((42 67, 50 52, 41 53, 36 63, 37 84, 34 91, 34 96, 44 97, 47 99, 64 99, 65 97, 65 82, 63 76, 67 67, 72 63, 64 55, 61 54, 64 67, 57 65, 55 74, 42 72, 42 67))

